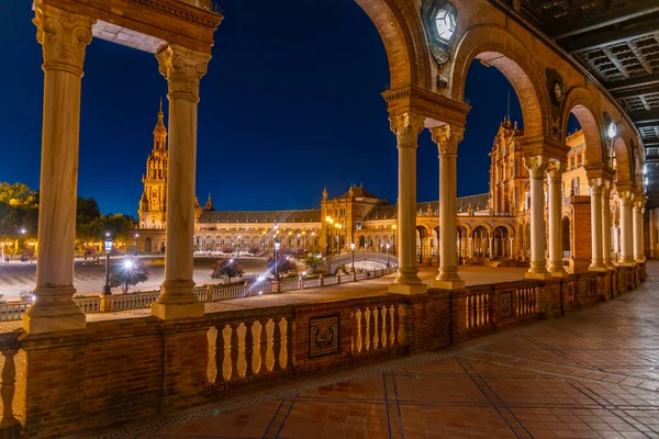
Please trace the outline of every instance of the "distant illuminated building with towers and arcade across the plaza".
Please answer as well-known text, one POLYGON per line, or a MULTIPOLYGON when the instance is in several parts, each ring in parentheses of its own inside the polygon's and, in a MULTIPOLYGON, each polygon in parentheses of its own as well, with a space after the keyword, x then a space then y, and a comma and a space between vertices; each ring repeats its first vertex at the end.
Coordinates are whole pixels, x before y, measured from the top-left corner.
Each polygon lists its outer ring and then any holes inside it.
MULTIPOLYGON (((530 259, 530 184, 521 147, 523 135, 515 122, 504 119, 489 153, 490 191, 457 200, 456 250, 462 263, 511 266, 530 259)), ((147 254, 164 254, 166 248, 166 138, 160 110, 138 210, 136 245, 147 254)), ((561 184, 563 264, 568 271, 584 271, 591 263, 591 198, 583 132, 568 136, 566 144, 570 151, 561 184)), ((615 261, 621 251, 615 185, 610 193, 615 261)), ((193 243, 196 252, 210 255, 259 255, 271 251, 277 240, 283 249, 297 252, 335 255, 349 251, 355 243, 357 251, 384 252, 389 247, 395 254, 396 215, 395 204, 354 184, 335 198, 325 189, 320 209, 297 211, 220 211, 209 194, 203 206, 196 202, 193 243)), ((548 221, 548 209, 545 218, 548 221)), ((417 203, 418 263, 438 263, 439 236, 439 202, 417 203)))

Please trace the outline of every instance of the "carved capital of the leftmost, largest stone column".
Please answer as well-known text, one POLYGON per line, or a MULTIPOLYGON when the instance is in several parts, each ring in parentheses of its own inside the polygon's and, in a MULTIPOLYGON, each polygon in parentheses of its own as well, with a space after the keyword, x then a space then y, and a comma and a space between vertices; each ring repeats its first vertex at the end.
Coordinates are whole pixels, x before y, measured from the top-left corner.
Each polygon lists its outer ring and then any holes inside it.
POLYGON ((82 77, 85 52, 96 20, 37 0, 32 22, 44 54, 44 71, 64 70, 82 77))

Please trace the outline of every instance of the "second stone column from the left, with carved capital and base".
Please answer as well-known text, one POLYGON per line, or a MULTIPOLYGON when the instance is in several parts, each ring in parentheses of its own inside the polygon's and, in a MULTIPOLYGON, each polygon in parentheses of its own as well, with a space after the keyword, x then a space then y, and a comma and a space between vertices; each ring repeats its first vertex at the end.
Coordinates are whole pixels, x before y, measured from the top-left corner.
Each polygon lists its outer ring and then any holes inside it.
POLYGON ((197 106, 211 55, 169 44, 156 58, 169 91, 169 166, 165 281, 152 314, 160 319, 200 317, 203 303, 192 292, 197 106))

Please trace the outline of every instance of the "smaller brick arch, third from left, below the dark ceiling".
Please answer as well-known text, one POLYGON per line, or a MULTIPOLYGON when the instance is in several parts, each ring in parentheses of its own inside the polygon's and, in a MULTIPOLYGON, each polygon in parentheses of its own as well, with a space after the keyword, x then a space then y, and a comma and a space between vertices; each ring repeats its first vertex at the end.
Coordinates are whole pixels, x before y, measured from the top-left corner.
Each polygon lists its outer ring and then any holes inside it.
POLYGON ((585 138, 585 165, 599 165, 605 161, 604 156, 604 127, 602 126, 602 111, 595 103, 590 91, 582 87, 570 90, 566 97, 561 119, 561 138, 567 137, 568 120, 574 114, 585 138))

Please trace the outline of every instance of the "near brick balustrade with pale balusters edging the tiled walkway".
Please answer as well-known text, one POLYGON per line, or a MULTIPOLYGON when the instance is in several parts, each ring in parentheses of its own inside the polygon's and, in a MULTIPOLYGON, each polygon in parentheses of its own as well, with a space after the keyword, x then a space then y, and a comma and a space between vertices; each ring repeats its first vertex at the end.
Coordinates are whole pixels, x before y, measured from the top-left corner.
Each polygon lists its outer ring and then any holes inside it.
POLYGON ((428 351, 501 325, 560 316, 590 299, 615 297, 613 278, 635 282, 645 273, 616 270, 181 320, 88 322, 85 331, 9 333, 0 335, 0 351, 12 359, 19 348, 21 353, 15 364, 2 367, 3 418, 16 414, 24 437, 67 436, 208 404, 283 378, 428 351), (577 291, 572 303, 570 288, 577 291))

